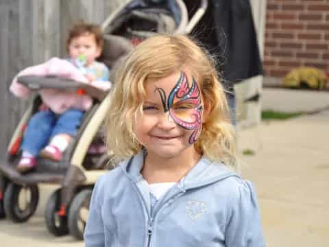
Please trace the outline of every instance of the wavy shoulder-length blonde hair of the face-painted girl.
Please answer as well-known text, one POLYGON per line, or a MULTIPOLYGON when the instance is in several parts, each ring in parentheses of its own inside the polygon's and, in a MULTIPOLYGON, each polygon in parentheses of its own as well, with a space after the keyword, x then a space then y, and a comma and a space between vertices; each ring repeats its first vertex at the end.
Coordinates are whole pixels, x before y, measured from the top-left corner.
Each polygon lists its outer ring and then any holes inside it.
POLYGON ((195 149, 212 161, 236 168, 236 137, 230 110, 217 78, 215 60, 207 54, 182 34, 148 38, 128 54, 116 72, 106 128, 108 149, 117 158, 128 158, 143 148, 136 140, 133 123, 145 100, 145 82, 187 67, 199 84, 204 105, 210 107, 195 149))

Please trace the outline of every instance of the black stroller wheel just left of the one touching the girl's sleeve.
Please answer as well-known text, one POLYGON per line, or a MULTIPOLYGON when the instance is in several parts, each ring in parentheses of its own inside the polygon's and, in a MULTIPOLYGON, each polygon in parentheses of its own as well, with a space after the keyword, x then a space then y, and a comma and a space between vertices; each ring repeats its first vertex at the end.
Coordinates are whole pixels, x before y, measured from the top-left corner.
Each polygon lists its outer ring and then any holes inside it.
POLYGON ((69 233, 69 228, 67 228, 67 216, 58 215, 59 210, 60 189, 57 189, 48 199, 45 209, 45 222, 48 231, 58 237, 69 233))

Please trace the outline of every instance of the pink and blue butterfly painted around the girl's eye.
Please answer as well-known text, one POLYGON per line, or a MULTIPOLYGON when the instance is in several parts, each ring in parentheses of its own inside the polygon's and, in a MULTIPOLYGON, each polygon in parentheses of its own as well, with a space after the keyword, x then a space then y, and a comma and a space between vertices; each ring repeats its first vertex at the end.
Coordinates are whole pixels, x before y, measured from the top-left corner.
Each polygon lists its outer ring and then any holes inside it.
POLYGON ((195 143, 202 130, 202 99, 197 82, 192 77, 191 86, 186 73, 180 72, 180 78, 175 84, 168 99, 164 89, 156 88, 159 93, 164 112, 169 112, 169 120, 178 126, 193 131, 188 143, 195 143))

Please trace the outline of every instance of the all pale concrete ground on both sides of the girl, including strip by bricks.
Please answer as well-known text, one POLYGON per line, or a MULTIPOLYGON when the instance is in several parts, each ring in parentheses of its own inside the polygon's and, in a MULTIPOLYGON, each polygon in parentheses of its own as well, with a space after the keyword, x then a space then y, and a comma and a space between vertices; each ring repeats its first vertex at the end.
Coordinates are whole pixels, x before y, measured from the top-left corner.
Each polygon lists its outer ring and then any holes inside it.
MULTIPOLYGON (((279 89, 263 91, 264 108, 314 111, 327 105, 329 95, 305 92, 306 96, 300 99, 301 91, 276 90, 279 89), (282 104, 286 107, 279 108, 282 104), (308 108, 310 104, 312 107, 308 108)), ((328 246, 328 125, 329 110, 325 110, 239 130, 243 177, 256 185, 267 246, 328 246), (243 155, 246 149, 255 154, 243 155)), ((53 189, 42 187, 38 211, 29 222, 0 221, 1 246, 83 246, 83 242, 75 242, 70 236, 58 238, 47 232, 42 215, 53 189)))

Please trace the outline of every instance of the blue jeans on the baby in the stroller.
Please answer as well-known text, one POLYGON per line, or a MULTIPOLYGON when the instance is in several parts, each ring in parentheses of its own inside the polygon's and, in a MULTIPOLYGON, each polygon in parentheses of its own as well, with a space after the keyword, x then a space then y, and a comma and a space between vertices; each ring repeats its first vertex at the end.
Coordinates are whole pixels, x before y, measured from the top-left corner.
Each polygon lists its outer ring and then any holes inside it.
POLYGON ((56 134, 75 136, 83 115, 82 110, 77 109, 66 110, 61 115, 51 110, 40 110, 29 119, 21 150, 37 156, 56 134))

